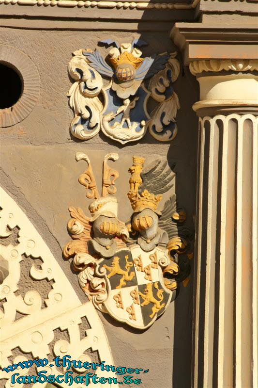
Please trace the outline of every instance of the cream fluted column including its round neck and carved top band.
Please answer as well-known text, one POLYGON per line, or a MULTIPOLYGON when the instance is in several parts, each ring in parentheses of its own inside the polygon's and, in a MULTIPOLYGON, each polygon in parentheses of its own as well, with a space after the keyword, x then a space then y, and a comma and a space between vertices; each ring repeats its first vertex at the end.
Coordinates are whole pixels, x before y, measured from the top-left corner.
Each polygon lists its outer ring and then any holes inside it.
POLYGON ((258 61, 194 61, 200 85, 195 388, 258 387, 258 61))

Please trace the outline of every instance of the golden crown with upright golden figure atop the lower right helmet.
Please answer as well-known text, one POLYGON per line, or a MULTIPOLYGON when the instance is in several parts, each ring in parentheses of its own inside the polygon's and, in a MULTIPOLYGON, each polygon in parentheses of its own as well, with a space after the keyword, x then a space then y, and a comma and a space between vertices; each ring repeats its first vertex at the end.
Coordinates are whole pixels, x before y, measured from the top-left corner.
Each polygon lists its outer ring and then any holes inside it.
POLYGON ((131 177, 129 179, 130 190, 127 195, 134 212, 142 211, 144 209, 152 209, 155 211, 162 199, 161 194, 152 194, 147 189, 143 190, 141 193, 138 192, 138 188, 142 184, 140 173, 142 172, 144 162, 144 158, 133 156, 133 165, 129 168, 131 177))

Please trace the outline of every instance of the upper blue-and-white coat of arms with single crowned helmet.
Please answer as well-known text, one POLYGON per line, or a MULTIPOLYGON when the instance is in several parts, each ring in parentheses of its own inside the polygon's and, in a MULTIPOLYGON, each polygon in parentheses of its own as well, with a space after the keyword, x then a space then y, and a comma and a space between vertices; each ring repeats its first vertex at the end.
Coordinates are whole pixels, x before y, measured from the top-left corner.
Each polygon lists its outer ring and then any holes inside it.
POLYGON ((79 49, 69 63, 75 80, 67 94, 75 113, 71 133, 88 140, 101 129, 125 144, 141 139, 148 129, 157 140, 172 140, 180 108, 172 86, 180 71, 177 53, 142 58, 142 40, 121 46, 111 39, 101 43, 113 46, 106 59, 98 50, 79 49), (151 112, 150 98, 155 102, 151 112))

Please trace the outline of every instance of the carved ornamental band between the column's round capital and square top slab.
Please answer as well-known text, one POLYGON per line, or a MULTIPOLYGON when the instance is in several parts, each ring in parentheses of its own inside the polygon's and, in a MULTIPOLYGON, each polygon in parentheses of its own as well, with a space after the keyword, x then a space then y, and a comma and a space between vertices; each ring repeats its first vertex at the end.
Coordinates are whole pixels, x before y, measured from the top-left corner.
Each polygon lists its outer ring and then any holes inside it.
POLYGON ((214 71, 219 72, 226 71, 258 71, 258 60, 236 60, 236 59, 218 59, 218 60, 200 60, 193 61, 189 64, 189 69, 193 75, 197 75, 202 72, 214 71))

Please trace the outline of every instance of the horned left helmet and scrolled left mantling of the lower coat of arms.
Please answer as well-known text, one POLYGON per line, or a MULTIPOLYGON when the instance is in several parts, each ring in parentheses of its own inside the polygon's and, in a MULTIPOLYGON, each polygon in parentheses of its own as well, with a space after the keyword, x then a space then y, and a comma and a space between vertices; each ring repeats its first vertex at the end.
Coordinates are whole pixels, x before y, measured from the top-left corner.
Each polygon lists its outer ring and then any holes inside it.
POLYGON ((86 187, 86 196, 95 200, 89 206, 91 217, 87 217, 80 208, 69 208, 71 220, 67 224, 67 229, 72 240, 63 248, 63 256, 65 259, 73 259, 73 267, 78 271, 79 284, 89 300, 100 311, 106 312, 104 307, 104 301, 107 298, 106 279, 96 272, 97 262, 101 257, 113 256, 114 247, 117 250, 126 248, 123 238, 128 234, 125 224, 117 217, 117 198, 108 195, 116 192, 114 182, 118 178, 118 172, 111 169, 107 161, 118 160, 118 154, 109 153, 104 158, 102 195, 105 196, 99 196, 89 157, 82 152, 77 152, 76 161, 81 160, 88 163, 88 168, 80 175, 79 182, 86 187), (100 216, 102 219, 96 221, 100 216), (95 221, 96 224, 94 224, 95 221), (101 244, 103 240, 95 240, 97 230, 103 236, 104 244, 101 244), (89 253, 90 242, 91 254, 89 253))

